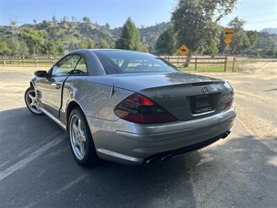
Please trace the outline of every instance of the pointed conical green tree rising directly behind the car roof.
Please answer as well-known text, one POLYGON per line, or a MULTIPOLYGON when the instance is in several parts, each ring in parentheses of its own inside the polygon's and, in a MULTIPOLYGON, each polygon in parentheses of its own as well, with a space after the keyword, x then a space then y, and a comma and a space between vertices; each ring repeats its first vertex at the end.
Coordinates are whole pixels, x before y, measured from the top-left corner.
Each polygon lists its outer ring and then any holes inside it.
POLYGON ((116 49, 141 51, 141 37, 139 30, 131 18, 128 18, 122 28, 122 34, 116 40, 116 49))

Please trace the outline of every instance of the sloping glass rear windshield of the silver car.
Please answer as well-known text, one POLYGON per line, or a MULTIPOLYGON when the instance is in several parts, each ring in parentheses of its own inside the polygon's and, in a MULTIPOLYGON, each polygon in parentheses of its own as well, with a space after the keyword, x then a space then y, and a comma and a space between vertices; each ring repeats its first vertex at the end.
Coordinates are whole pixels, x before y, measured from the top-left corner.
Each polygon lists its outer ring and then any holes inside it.
POLYGON ((94 51, 107 74, 176 72, 177 67, 148 53, 135 51, 94 51))

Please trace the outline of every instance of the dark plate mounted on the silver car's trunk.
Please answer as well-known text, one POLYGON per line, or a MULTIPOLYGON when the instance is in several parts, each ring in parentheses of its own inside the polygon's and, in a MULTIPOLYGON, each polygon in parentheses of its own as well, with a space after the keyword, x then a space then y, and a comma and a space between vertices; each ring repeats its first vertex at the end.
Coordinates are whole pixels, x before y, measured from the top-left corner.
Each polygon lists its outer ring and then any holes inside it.
POLYGON ((213 110, 213 103, 211 100, 211 95, 209 94, 191 96, 190 101, 193 114, 199 114, 213 110))

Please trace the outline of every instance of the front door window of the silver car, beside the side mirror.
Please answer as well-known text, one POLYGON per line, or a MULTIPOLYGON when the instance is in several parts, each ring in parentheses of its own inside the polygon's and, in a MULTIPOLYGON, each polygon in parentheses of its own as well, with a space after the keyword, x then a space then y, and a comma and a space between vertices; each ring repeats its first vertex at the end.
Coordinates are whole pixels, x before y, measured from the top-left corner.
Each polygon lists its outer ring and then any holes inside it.
POLYGON ((67 76, 69 71, 75 69, 79 59, 80 55, 66 56, 66 58, 62 59, 53 67, 52 76, 67 76))

